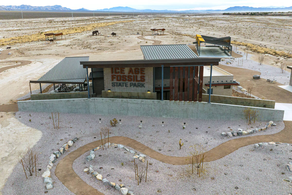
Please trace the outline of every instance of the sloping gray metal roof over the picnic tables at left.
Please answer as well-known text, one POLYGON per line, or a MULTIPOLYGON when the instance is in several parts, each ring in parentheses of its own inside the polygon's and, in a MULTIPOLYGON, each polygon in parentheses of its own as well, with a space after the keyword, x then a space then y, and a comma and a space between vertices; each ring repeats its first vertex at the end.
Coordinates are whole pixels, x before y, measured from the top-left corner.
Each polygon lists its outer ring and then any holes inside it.
POLYGON ((86 69, 80 65, 80 61, 88 61, 89 57, 66 57, 32 83, 84 83, 86 80, 86 69))

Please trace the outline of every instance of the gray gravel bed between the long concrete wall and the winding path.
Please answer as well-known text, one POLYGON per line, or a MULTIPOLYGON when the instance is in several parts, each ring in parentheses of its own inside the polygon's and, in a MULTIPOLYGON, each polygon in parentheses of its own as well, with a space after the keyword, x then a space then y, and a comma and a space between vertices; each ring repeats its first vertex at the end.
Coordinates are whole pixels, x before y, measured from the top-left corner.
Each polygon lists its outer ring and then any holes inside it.
MULTIPOLYGON (((41 177, 41 175, 44 172, 46 165, 48 164, 49 156, 51 155, 51 153, 53 153, 54 151, 58 151, 58 148, 60 148, 62 144, 66 143, 70 139, 73 139, 74 137, 80 138, 76 143, 74 143, 74 145, 71 148, 69 148, 69 151, 61 155, 61 158, 57 160, 58 163, 58 161, 62 159, 64 156, 66 156, 70 151, 74 151, 80 146, 100 139, 99 138, 100 127, 109 126, 109 120, 112 120, 113 118, 117 118, 117 120, 121 119, 122 124, 117 124, 117 127, 109 127, 110 136, 130 137, 141 142, 142 144, 145 144, 146 146, 149 146, 150 148, 156 151, 159 151, 162 154, 169 156, 187 156, 190 151, 189 147, 196 143, 201 144, 207 143, 206 145, 211 149, 225 141, 228 141, 229 139, 237 138, 231 137, 228 139, 227 137, 221 137, 220 135, 221 132, 227 132, 230 129, 237 130, 237 128, 241 128, 245 130, 248 128, 248 125, 246 125, 246 122, 244 122, 244 120, 218 121, 218 120, 151 118, 138 116, 108 116, 108 115, 102 116, 60 113, 60 129, 53 129, 53 122, 52 119, 50 118, 51 113, 17 112, 15 117, 25 125, 41 130, 43 133, 42 138, 36 144, 36 148, 40 153, 39 154, 40 160, 39 163, 37 164, 37 168, 41 168, 41 171, 37 172, 38 177, 29 176, 28 177, 29 179, 26 180, 25 175, 23 173, 22 165, 18 164, 13 169, 12 174, 8 177, 8 180, 2 191, 3 194, 22 195, 44 193, 46 189, 44 187, 45 185, 43 183, 43 178, 41 177), (101 118, 101 123, 98 122, 99 118, 101 118), (31 122, 29 122, 29 119, 31 120, 31 122), (142 127, 138 127, 140 125, 140 120, 142 120, 142 127), (164 127, 161 126, 162 121, 164 121, 165 125, 164 127), (186 122, 186 128, 184 130, 182 128, 183 122, 186 122), (182 139, 184 143, 184 146, 182 147, 181 150, 179 150, 178 145, 179 139, 182 139)), ((250 126, 256 128, 256 125, 259 126, 260 123, 262 123, 262 125, 264 126, 266 122, 267 121, 256 122, 255 124, 252 124, 250 126)), ((283 128, 284 123, 280 121, 277 122, 276 127, 270 127, 265 132, 261 131, 256 134, 246 136, 273 134, 281 131, 283 128)), ((111 141, 109 140, 109 142, 111 141)), ((17 156, 15 156, 15 158, 17 158, 17 156)), ((130 161, 131 157, 128 158, 129 158, 128 161, 130 161)), ((83 158, 83 160, 84 159, 85 158, 83 158)), ((146 160, 150 160, 150 158, 148 159, 146 158, 146 160)), ((127 162, 126 159, 124 161, 126 164, 127 162)), ((153 165, 154 162, 155 160, 153 160, 153 165)), ((250 165, 253 164, 254 163, 251 163, 250 165)), ((58 180, 58 178, 56 178, 56 176, 54 175, 55 165, 56 164, 54 164, 53 168, 51 169, 52 175, 51 178, 55 182, 54 188, 49 190, 49 193, 60 195, 72 194, 72 192, 70 192, 65 186, 63 186, 62 183, 58 180)), ((83 171, 83 164, 81 166, 82 170, 81 169, 80 170, 83 171)), ((165 168, 168 165, 163 164, 161 166, 165 168)), ((183 169, 185 168, 182 168, 182 170, 183 169)), ((85 175, 86 177, 88 176, 87 174, 85 175)), ((151 180, 154 181, 153 176, 149 177, 151 180)), ((164 179, 161 177, 160 183, 155 182, 154 184, 158 185, 158 187, 159 185, 161 185, 162 187, 163 186, 169 187, 169 185, 166 184, 163 180, 164 179)), ((185 182, 187 182, 187 180, 185 180, 185 182)), ((129 184, 127 183, 127 185, 131 185, 131 183, 129 184)), ((187 189, 187 191, 188 190, 189 189, 187 189)), ((134 189, 132 191, 135 192, 134 189)))

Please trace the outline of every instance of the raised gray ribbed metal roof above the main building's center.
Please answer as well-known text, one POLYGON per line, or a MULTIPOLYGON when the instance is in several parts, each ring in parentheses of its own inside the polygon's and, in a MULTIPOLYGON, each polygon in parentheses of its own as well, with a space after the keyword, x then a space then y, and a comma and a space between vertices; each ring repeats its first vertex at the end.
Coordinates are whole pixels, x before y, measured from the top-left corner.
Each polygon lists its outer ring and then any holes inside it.
POLYGON ((186 45, 141 45, 146 60, 198 58, 186 45))

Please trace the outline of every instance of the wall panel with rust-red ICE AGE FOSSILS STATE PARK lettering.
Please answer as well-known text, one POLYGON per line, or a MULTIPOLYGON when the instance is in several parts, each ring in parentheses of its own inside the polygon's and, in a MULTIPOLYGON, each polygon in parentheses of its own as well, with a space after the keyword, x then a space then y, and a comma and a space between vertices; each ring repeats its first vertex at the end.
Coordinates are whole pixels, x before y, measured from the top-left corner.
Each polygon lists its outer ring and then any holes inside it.
POLYGON ((105 90, 147 92, 153 88, 153 68, 105 68, 105 90))

